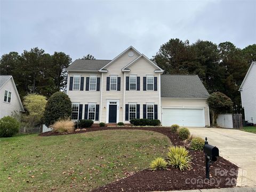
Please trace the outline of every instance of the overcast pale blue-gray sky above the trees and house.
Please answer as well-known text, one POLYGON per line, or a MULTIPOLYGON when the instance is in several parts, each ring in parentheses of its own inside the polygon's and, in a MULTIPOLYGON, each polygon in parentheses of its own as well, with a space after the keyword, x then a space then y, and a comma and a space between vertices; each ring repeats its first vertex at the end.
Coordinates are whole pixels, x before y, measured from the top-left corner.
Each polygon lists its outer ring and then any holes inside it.
POLYGON ((151 58, 171 38, 256 43, 256 1, 0 1, 1 55, 113 59, 132 45, 151 58))

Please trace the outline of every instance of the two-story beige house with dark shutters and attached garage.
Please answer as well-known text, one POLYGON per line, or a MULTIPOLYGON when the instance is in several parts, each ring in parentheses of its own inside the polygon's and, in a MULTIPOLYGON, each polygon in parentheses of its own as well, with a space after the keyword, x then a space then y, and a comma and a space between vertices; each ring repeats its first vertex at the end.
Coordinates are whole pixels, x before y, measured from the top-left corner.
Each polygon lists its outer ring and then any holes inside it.
POLYGON ((162 125, 210 125, 209 93, 197 75, 163 70, 130 46, 113 60, 75 60, 67 68, 72 118, 95 123, 159 119, 162 125))

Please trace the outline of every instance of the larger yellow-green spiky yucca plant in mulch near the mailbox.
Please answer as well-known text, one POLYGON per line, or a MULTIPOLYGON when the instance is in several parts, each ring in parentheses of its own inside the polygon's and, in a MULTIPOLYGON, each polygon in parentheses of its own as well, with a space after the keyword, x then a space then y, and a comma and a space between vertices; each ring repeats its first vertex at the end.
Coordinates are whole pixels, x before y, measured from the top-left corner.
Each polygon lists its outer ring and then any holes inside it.
POLYGON ((170 165, 178 167, 181 171, 190 168, 191 156, 185 147, 169 147, 167 153, 167 161, 170 165))

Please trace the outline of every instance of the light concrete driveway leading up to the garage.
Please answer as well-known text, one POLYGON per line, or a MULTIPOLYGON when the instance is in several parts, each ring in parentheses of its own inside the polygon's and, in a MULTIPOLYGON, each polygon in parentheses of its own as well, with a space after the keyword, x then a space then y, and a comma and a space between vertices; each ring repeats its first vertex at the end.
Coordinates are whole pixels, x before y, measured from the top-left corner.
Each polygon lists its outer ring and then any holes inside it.
POLYGON ((193 135, 207 137, 220 156, 239 167, 237 186, 256 186, 256 134, 233 129, 189 127, 193 135))

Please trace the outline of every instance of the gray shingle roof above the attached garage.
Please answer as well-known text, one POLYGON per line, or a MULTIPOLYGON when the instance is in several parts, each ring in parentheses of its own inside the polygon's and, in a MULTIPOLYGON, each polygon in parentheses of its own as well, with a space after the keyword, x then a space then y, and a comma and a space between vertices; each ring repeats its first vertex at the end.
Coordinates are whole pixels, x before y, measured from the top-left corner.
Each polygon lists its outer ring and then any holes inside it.
POLYGON ((207 98, 209 93, 197 75, 161 75, 161 97, 207 98))

